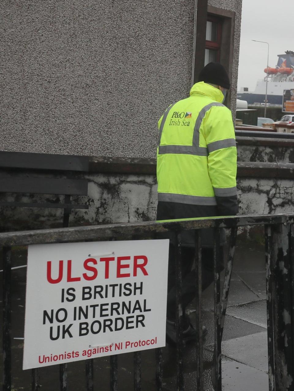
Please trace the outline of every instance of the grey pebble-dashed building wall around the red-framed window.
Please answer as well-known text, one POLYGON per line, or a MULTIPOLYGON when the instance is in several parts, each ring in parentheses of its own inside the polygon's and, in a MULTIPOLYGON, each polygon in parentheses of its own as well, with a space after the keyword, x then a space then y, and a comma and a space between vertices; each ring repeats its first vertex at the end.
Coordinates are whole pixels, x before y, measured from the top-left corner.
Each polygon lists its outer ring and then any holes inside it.
MULTIPOLYGON (((241 1, 210 4, 239 13, 235 91, 241 1)), ((155 156, 157 120, 191 87, 194 1, 2 0, 0 15, 3 151, 155 156)))

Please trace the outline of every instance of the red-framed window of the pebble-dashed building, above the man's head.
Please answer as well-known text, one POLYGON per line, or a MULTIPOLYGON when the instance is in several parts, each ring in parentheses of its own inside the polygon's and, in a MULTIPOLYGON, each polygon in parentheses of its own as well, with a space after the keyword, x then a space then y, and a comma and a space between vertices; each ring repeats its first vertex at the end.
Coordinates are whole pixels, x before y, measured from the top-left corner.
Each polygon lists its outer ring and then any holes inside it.
POLYGON ((205 43, 205 64, 218 62, 221 49, 221 20, 214 16, 207 17, 206 22, 206 43, 205 43))

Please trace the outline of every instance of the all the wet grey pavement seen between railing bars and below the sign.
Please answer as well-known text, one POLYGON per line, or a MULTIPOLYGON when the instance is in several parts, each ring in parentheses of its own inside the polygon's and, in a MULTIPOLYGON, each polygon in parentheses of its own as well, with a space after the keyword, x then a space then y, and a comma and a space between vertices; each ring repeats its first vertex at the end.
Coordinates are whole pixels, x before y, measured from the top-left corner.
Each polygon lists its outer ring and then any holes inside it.
MULTIPOLYGON (((12 266, 26 263, 26 249, 16 248, 12 266)), ((1 258, 2 259, 2 258, 1 258)), ((2 261, 1 261, 2 262, 2 261)), ((0 265, 0 269, 3 269, 0 265)), ((25 311, 26 268, 12 271, 12 390, 31 389, 31 371, 23 371, 23 328, 25 311)), ((0 272, 2 285, 2 273, 0 272)), ((0 297, 0 324, 2 298, 0 297)), ((203 341, 204 390, 213 391, 210 380, 210 362, 214 343, 213 287, 203 293, 203 324, 208 335, 203 341)), ((189 308, 193 319, 193 306, 189 308)), ((240 242, 237 245, 228 298, 222 343, 223 391, 267 391, 267 325, 265 291, 265 255, 262 245, 240 242)), ((1 341, 2 343, 2 341, 1 341)), ((2 347, 1 347, 2 352, 2 347)), ((185 390, 196 390, 195 348, 184 348, 185 390)), ((1 354, 2 356, 2 354, 1 354)), ((2 366, 2 357, 0 358, 2 366)), ((133 354, 118 355, 118 390, 133 389, 133 354)), ((2 368, 1 368, 2 371, 2 368)), ((41 368, 41 390, 55 391, 59 386, 59 366, 41 368)), ((171 346, 163 349, 163 389, 176 389, 176 351, 171 346)), ((94 389, 109 390, 109 357, 94 360, 94 389)), ((68 364, 68 390, 86 390, 85 362, 68 364)), ((155 391, 155 350, 142 352, 142 390, 155 391)))

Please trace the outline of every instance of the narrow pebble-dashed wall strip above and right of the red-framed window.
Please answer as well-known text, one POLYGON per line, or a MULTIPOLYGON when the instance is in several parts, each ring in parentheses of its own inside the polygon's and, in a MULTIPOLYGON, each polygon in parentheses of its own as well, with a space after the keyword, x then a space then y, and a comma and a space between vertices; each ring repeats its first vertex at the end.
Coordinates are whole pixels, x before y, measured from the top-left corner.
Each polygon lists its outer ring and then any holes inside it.
POLYGON ((235 32, 233 37, 233 64, 231 81, 231 110, 233 113, 233 117, 235 118, 239 66, 239 47, 241 35, 242 0, 208 0, 208 5, 235 12, 235 32))

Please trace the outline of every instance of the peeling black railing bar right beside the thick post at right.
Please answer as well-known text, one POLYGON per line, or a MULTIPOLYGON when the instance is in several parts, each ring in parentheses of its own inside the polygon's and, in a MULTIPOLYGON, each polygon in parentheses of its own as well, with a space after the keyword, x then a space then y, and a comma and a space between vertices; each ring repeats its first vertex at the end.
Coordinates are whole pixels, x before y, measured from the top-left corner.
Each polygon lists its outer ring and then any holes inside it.
POLYGON ((269 367, 269 391, 274 391, 274 330, 273 330, 273 269, 271 226, 265 227, 265 278, 267 307, 267 360, 269 367))

